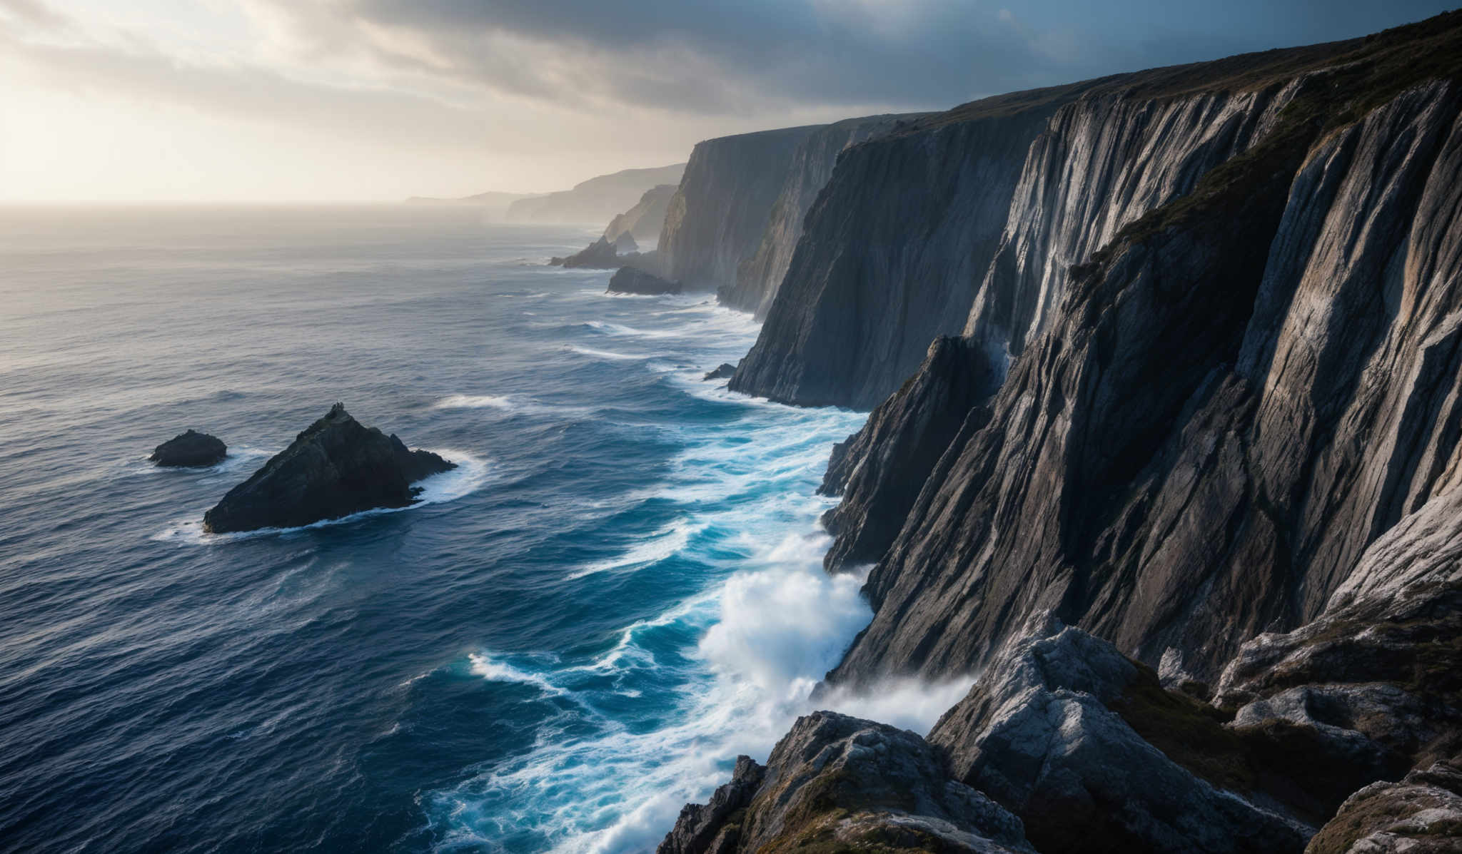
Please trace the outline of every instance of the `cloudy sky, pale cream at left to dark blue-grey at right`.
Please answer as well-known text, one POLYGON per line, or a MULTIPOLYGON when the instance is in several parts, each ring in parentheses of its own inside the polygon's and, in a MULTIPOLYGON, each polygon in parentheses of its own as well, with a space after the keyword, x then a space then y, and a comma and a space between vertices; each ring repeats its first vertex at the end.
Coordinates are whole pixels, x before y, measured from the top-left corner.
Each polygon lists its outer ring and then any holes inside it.
POLYGON ((1459 0, 0 0, 0 202, 544 192, 1459 0))

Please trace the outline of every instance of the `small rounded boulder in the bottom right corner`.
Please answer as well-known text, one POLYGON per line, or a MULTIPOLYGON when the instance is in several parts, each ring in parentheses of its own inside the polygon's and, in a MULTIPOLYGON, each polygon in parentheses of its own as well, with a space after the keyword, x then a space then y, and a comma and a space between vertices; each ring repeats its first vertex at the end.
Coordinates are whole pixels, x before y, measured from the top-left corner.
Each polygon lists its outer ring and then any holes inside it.
POLYGON ((1374 782, 1351 796, 1306 854, 1456 854, 1462 851, 1462 755, 1374 782))

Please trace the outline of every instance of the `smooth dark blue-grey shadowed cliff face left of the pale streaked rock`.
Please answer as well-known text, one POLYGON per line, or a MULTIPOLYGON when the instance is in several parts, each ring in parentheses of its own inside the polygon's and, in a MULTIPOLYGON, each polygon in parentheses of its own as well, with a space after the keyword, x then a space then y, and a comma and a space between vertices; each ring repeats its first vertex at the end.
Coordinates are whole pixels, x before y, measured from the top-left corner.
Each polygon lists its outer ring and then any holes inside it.
POLYGON ((1026 149, 1061 97, 849 148, 731 389, 854 408, 898 389, 930 341, 963 328, 1026 149))

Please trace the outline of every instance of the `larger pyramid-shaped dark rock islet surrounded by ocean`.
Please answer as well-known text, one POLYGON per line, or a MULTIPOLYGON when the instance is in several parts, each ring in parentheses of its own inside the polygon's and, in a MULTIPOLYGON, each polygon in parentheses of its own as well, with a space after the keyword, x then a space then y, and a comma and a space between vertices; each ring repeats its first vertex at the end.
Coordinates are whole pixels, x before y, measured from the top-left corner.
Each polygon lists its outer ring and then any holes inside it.
POLYGON ((364 427, 335 404, 249 480, 203 515, 211 534, 297 528, 377 507, 405 507, 411 484, 456 468, 430 450, 409 450, 395 434, 364 427))

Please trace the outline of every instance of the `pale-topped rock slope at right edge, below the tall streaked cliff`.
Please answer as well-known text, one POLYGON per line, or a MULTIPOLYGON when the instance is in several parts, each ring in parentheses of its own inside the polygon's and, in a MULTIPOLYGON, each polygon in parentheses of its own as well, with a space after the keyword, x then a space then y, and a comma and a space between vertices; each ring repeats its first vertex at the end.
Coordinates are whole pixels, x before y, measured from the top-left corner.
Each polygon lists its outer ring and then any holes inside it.
POLYGON ((1244 643, 1213 702, 1235 727, 1308 728, 1371 779, 1462 750, 1459 518, 1462 487, 1406 516, 1319 619, 1244 643))

